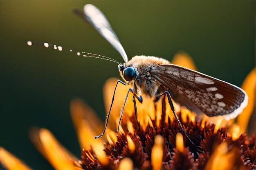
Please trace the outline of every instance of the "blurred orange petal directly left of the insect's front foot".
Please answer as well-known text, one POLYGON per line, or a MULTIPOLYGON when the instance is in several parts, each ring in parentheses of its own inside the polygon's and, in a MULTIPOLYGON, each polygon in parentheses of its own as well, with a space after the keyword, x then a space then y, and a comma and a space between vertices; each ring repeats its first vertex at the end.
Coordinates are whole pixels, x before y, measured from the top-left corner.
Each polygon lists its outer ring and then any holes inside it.
POLYGON ((104 127, 88 105, 80 99, 72 100, 70 113, 81 149, 90 149, 92 143, 103 142, 105 136, 103 139, 94 139, 94 136, 102 133, 104 127))

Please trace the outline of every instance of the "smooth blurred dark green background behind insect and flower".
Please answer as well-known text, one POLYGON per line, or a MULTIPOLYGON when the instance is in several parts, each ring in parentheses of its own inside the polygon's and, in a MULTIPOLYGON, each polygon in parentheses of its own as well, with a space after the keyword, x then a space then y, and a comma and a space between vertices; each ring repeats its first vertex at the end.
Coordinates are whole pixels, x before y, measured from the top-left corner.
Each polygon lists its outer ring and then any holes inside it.
POLYGON ((123 62, 105 39, 72 13, 86 3, 103 11, 129 59, 143 54, 171 61, 184 50, 198 71, 237 86, 254 68, 254 0, 1 0, 0 146, 33 169, 51 166, 29 141, 29 129, 49 129, 79 157, 70 100, 83 98, 104 121, 103 84, 110 77, 120 78, 115 63, 27 46, 28 40, 49 42, 123 62))

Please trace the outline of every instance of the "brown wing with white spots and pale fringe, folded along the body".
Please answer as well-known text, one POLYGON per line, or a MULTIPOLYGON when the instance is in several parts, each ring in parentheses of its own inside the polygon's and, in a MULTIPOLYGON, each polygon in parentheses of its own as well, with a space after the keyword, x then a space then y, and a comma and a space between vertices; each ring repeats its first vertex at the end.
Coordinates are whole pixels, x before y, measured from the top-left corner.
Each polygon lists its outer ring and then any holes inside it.
POLYGON ((150 70, 150 74, 210 117, 236 118, 248 103, 243 89, 178 65, 157 65, 150 70))

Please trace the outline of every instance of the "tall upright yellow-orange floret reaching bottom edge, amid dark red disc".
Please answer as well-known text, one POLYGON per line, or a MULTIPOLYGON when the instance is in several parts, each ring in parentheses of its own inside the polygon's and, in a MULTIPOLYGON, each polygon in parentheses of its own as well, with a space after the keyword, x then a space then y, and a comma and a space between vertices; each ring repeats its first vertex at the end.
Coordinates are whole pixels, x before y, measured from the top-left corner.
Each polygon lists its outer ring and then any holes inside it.
POLYGON ((153 170, 161 170, 163 161, 164 138, 161 135, 155 136, 155 143, 151 151, 151 165, 153 170))

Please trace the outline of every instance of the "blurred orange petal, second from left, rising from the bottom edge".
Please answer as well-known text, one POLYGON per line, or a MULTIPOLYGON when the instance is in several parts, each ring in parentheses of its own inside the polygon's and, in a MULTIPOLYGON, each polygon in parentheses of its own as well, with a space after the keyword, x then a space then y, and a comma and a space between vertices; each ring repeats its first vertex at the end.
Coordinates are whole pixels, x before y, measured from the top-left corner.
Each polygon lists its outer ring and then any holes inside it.
MULTIPOLYGON (((33 144, 56 170, 74 170, 76 166, 71 160, 78 160, 57 141, 47 129, 31 131, 33 144)), ((77 168, 77 167, 76 167, 77 168)))

